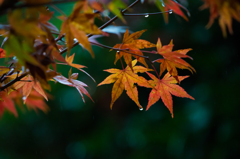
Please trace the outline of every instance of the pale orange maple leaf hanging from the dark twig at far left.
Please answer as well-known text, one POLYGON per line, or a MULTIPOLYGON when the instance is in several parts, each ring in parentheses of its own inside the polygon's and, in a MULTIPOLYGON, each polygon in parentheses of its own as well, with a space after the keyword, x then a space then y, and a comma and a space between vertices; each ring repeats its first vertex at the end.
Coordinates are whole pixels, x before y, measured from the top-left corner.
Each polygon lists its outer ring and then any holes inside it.
POLYGON ((14 89, 22 88, 22 95, 24 103, 26 102, 28 96, 30 95, 32 89, 36 90, 39 94, 41 94, 46 100, 48 100, 47 95, 42 89, 40 83, 33 79, 31 75, 25 76, 21 81, 14 83, 14 89))

